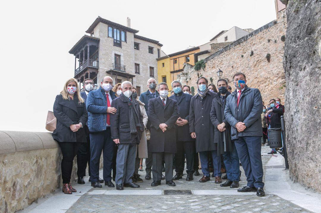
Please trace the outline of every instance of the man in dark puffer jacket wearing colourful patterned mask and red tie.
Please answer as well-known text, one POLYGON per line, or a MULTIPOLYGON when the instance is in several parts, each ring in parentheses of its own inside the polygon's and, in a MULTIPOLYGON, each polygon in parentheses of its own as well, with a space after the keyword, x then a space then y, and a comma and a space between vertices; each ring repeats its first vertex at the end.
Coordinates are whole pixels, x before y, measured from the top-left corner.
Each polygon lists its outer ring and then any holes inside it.
POLYGON ((261 92, 256 88, 247 87, 243 73, 236 73, 233 81, 236 90, 226 99, 224 115, 231 125, 231 139, 234 140, 247 177, 247 186, 238 189, 238 192, 256 192, 257 196, 264 196, 261 92))

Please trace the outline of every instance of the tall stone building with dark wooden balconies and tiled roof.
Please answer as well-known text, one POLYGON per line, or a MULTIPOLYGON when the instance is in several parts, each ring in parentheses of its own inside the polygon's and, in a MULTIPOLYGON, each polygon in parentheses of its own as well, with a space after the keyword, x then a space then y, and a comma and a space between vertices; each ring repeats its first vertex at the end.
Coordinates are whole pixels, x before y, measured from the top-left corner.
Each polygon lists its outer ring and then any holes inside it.
POLYGON ((129 80, 140 95, 149 78, 157 79, 157 60, 165 55, 159 41, 137 35, 138 30, 98 17, 69 51, 75 56, 74 77, 100 85, 105 75, 116 83, 129 80), (78 61, 78 63, 77 63, 78 61), (78 66, 77 66, 78 64, 78 66))

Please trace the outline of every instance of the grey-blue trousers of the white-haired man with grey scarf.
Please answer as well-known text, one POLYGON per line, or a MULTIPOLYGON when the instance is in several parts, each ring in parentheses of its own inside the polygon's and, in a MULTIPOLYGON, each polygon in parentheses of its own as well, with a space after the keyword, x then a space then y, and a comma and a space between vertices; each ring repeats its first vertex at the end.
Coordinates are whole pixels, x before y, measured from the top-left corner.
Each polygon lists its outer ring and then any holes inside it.
POLYGON ((118 144, 116 158, 116 184, 133 182, 137 144, 118 144))

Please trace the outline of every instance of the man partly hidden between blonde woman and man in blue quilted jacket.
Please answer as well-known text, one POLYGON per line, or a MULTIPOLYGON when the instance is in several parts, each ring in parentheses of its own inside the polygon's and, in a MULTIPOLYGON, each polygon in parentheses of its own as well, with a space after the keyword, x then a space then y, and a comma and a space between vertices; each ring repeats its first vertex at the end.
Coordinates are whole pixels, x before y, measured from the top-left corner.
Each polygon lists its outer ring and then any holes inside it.
MULTIPOLYGON (((94 81, 91 78, 86 78, 82 82, 83 89, 85 91, 81 92, 81 97, 85 100, 87 100, 88 93, 93 90, 94 88, 94 81)), ((83 180, 83 177, 86 176, 86 167, 88 163, 88 175, 90 176, 90 137, 89 137, 89 129, 88 129, 88 122, 86 122, 86 125, 84 125, 85 133, 86 133, 86 139, 87 143, 83 143, 78 150, 77 153, 77 176, 78 176, 78 184, 85 184, 85 181, 83 180)), ((99 178, 98 182, 103 183, 104 180, 99 178)))

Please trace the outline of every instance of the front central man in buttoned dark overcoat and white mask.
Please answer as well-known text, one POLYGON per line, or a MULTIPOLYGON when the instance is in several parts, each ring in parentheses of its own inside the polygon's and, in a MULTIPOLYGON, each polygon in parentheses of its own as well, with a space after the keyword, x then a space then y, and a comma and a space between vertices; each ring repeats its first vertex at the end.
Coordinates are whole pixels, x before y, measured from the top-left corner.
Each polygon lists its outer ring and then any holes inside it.
POLYGON ((152 152, 153 182, 152 186, 160 185, 162 175, 162 157, 165 160, 166 184, 175 186, 173 182, 173 155, 176 152, 175 122, 179 117, 177 101, 168 98, 167 83, 158 85, 160 97, 150 99, 148 103, 149 119, 151 120, 151 139, 149 152, 152 152))

